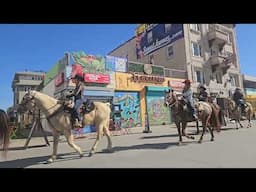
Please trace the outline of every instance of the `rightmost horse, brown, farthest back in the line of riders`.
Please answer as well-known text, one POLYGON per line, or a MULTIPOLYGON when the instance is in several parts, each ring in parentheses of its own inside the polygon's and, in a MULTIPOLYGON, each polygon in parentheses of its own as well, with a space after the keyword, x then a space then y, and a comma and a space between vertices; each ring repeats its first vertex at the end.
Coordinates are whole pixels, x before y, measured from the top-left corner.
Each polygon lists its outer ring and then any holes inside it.
MULTIPOLYGON (((240 106, 236 106, 236 103, 235 103, 234 100, 232 100, 230 98, 228 98, 227 100, 228 100, 228 111, 231 114, 231 116, 235 119, 236 129, 238 129, 237 123, 239 123, 240 128, 242 128, 243 125, 240 122, 240 119, 242 117, 241 107, 240 106)), ((252 116, 253 116, 253 107, 252 107, 252 104, 249 103, 249 102, 246 102, 245 105, 246 105, 246 107, 245 107, 245 116, 246 116, 246 118, 248 120, 247 128, 249 128, 249 127, 252 126, 251 119, 252 119, 252 116)))

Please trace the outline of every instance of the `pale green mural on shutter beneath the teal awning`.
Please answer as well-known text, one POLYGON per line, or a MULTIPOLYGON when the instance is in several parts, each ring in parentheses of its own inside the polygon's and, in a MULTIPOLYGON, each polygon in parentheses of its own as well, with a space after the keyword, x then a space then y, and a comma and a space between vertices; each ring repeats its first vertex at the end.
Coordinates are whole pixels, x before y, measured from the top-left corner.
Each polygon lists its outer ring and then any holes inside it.
POLYGON ((163 96, 147 95, 147 111, 150 125, 170 124, 170 111, 164 106, 163 96))

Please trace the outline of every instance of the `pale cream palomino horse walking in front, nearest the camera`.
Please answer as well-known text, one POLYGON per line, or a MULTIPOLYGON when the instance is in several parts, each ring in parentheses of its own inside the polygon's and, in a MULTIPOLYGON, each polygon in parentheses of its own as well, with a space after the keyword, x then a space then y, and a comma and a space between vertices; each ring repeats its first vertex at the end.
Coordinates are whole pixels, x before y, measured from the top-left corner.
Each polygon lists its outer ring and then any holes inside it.
MULTIPOLYGON (((74 144, 73 134, 72 134, 72 123, 70 120, 70 113, 67 113, 63 110, 63 105, 60 104, 57 99, 50 97, 46 94, 40 93, 38 91, 29 91, 23 97, 23 100, 20 104, 20 108, 23 111, 32 110, 34 107, 37 107, 44 113, 46 119, 53 132, 53 153, 48 159, 48 163, 53 162, 57 156, 57 147, 59 142, 60 133, 63 131, 67 139, 69 146, 71 146, 80 157, 83 156, 83 153, 77 145, 74 144)), ((97 129, 97 138, 92 146, 89 156, 95 153, 97 144, 101 137, 104 134, 108 138, 107 151, 112 150, 112 142, 109 133, 109 118, 110 118, 110 106, 107 103, 94 102, 94 109, 87 113, 83 114, 82 124, 83 127, 86 125, 95 125, 97 129)))

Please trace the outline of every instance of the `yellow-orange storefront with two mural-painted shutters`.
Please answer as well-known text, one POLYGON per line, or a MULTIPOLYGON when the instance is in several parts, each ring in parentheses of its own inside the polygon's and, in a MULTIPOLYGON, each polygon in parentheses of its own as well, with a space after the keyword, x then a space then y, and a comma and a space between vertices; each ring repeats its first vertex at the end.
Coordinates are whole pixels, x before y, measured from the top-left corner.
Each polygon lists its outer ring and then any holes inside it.
POLYGON ((146 115, 150 125, 169 124, 170 111, 164 105, 164 94, 173 82, 181 91, 184 79, 116 72, 113 103, 121 107, 121 127, 145 126, 146 115), (147 112, 147 113, 146 113, 147 112), (129 123, 126 123, 129 122, 129 123))

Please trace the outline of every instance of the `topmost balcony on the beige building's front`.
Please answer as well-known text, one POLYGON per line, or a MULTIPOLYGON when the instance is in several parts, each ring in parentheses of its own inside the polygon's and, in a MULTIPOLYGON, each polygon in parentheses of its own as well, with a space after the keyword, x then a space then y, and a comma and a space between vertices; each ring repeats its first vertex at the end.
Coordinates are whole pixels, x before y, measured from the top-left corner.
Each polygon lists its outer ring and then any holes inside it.
POLYGON ((217 28, 213 28, 208 32, 208 40, 210 46, 214 42, 217 45, 223 47, 228 42, 228 34, 217 28))

